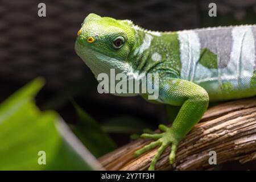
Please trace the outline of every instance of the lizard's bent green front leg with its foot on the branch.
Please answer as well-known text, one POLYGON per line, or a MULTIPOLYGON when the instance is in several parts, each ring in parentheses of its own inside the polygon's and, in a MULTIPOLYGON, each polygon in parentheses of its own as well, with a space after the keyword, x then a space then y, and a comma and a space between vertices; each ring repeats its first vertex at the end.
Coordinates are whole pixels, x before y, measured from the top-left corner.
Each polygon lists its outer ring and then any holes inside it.
POLYGON ((167 78, 159 82, 159 100, 164 104, 181 107, 171 127, 159 125, 159 129, 164 133, 141 135, 143 138, 156 139, 156 141, 136 151, 135 156, 160 146, 154 159, 152 159, 149 170, 155 169, 155 163, 170 144, 172 144, 170 164, 174 163, 179 142, 200 121, 205 110, 207 110, 209 96, 201 86, 193 82, 179 78, 167 78))

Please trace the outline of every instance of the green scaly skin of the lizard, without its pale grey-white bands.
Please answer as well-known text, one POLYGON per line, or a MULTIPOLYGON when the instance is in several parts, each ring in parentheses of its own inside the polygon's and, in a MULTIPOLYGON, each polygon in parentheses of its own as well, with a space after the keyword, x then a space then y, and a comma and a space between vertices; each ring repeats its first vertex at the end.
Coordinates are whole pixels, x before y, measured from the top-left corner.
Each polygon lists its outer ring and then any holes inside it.
MULTIPOLYGON (((159 73, 159 98, 156 102, 180 106, 171 127, 159 125, 163 133, 141 135, 143 138, 156 141, 136 151, 135 156, 160 146, 149 170, 154 170, 160 155, 170 145, 170 164, 174 163, 178 144, 200 121, 209 101, 250 97, 255 96, 256 93, 255 73, 251 77, 249 88, 236 88, 232 82, 221 79, 218 80, 220 84, 217 87, 212 86, 216 82, 210 81, 210 78, 204 82, 193 79, 191 81, 190 78, 186 80, 183 77, 184 65, 181 60, 182 52, 180 52, 184 48, 180 48, 178 36, 177 32, 143 30, 130 20, 116 20, 89 14, 82 23, 75 44, 77 55, 84 60, 96 77, 99 73, 110 74, 110 68, 114 68, 116 73, 126 75, 159 73), (120 36, 123 43, 117 48, 113 42, 120 36), (88 42, 90 37, 94 42, 88 42)), ((207 72, 221 70, 217 65, 217 55, 207 47, 201 48, 199 53, 197 64, 207 72)), ((134 78, 137 77, 134 76, 134 78)), ((146 98, 147 94, 142 96, 146 98)))

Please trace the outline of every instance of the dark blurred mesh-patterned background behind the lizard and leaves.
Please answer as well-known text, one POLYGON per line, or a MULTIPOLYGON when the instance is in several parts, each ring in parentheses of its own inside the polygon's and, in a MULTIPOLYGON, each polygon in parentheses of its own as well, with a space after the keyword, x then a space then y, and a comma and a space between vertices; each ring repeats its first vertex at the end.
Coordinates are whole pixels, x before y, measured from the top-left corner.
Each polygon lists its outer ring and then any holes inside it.
MULTIPOLYGON (((150 30, 177 31, 255 24, 256 1, 0 0, 0 101, 33 78, 43 76, 46 86, 36 99, 38 106, 57 110, 68 123, 76 122, 70 98, 100 123, 123 118, 142 121, 155 129, 159 122, 166 122, 164 106, 141 97, 98 94, 95 78, 73 48, 77 31, 89 13, 131 19, 150 30), (46 17, 38 16, 40 2, 46 4, 46 17), (217 5, 217 17, 208 16, 211 2, 217 5)), ((130 140, 127 134, 111 136, 119 146, 130 140)), ((227 165, 228 169, 253 166, 227 165)))

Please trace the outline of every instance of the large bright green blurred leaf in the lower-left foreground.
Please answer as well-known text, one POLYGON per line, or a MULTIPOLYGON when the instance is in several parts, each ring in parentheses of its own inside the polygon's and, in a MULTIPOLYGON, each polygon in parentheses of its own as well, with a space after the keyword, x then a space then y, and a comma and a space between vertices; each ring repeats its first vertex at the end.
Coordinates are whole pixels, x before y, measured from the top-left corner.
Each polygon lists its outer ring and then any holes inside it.
POLYGON ((0 170, 94 169, 99 165, 53 111, 34 104, 38 78, 0 105, 0 170), (46 152, 46 165, 38 164, 46 152))

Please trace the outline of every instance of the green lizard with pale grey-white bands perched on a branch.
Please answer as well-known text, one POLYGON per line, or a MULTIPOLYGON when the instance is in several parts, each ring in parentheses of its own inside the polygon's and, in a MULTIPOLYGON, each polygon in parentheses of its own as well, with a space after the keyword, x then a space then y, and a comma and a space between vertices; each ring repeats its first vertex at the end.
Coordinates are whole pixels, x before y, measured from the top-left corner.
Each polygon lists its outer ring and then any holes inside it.
POLYGON ((174 163, 179 142, 199 122, 209 101, 256 95, 255 48, 255 25, 158 32, 96 14, 85 18, 75 44, 96 77, 111 68, 134 79, 158 73, 156 102, 180 106, 171 127, 159 125, 163 133, 142 134, 156 141, 135 156, 160 146, 150 170, 170 145, 174 163))

